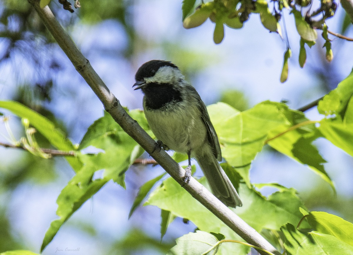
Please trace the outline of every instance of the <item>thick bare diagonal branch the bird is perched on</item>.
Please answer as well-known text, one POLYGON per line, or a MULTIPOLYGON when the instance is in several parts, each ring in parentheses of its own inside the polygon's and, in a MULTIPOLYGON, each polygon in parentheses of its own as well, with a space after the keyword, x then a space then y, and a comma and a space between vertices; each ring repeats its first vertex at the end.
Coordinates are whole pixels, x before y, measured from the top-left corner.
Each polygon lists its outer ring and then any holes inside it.
MULTIPOLYGON (((82 75, 97 97, 101 100, 104 109, 110 113, 113 119, 121 126, 124 131, 130 135, 143 149, 146 150, 166 172, 172 176, 180 185, 183 184, 182 177, 185 170, 179 166, 164 150, 154 150, 155 141, 138 125, 136 120, 132 119, 121 106, 118 99, 109 91, 95 70, 91 67, 89 61, 78 50, 77 46, 62 29, 55 19, 48 6, 40 8, 39 0, 29 0, 35 8, 44 25, 52 34, 61 49, 70 59, 78 73, 82 75)), ((194 198, 210 210, 229 228, 235 231, 246 242, 268 250, 276 255, 280 255, 265 238, 263 238, 255 229, 251 228, 244 220, 229 209, 225 204, 218 200, 211 192, 201 185, 194 178, 191 178, 189 184, 183 186, 194 198)), ((267 254, 258 250, 260 254, 267 254)))

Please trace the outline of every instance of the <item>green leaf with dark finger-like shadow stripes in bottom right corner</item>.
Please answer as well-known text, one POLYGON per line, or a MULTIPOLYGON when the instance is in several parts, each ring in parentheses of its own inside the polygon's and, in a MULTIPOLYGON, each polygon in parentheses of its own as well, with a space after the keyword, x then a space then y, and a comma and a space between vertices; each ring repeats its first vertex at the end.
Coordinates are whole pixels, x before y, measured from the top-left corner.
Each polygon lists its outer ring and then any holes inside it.
POLYGON ((316 231, 303 233, 287 223, 281 228, 286 237, 285 249, 289 255, 310 254, 310 255, 341 255, 353 254, 353 247, 336 237, 322 234, 316 231))

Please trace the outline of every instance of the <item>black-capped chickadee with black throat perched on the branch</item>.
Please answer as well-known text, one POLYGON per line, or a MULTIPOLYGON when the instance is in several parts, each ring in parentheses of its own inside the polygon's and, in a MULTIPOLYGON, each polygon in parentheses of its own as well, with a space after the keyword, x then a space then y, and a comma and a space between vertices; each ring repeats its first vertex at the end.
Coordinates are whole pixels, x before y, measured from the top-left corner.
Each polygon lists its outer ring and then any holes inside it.
POLYGON ((179 68, 168 61, 151 60, 135 75, 133 87, 144 93, 147 122, 164 149, 186 153, 189 166, 184 182, 191 177, 191 157, 196 158, 212 192, 225 205, 242 206, 241 200, 218 161, 222 160, 218 137, 206 106, 179 68))

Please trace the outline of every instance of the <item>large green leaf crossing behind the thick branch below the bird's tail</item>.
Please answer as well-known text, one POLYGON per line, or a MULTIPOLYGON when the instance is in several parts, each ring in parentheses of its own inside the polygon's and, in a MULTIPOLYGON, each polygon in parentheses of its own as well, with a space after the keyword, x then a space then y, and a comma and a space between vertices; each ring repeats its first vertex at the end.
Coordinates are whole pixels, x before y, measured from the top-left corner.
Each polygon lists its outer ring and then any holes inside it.
MULTIPOLYGON (((205 178, 201 178, 200 182, 203 185, 207 184, 205 178)), ((276 230, 287 222, 298 224, 303 217, 299 208, 305 208, 305 206, 292 191, 275 192, 266 199, 255 190, 247 188, 245 184, 240 184, 239 194, 244 201, 243 207, 232 210, 257 231, 261 231, 263 228, 276 230)), ((155 205, 178 217, 189 219, 199 230, 221 233, 226 239, 241 240, 234 231, 195 200, 172 178, 164 180, 163 184, 151 193, 145 205, 155 205)), ((249 252, 248 247, 240 244, 222 245, 219 249, 220 254, 246 254, 249 252)))

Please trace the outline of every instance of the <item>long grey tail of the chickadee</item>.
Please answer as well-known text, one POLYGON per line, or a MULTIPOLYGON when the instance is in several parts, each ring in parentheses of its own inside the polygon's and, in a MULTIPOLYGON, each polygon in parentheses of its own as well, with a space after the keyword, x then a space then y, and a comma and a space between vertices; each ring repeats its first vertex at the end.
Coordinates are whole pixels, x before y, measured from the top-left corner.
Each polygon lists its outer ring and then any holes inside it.
POLYGON ((242 206, 243 203, 241 203, 237 191, 216 157, 212 153, 204 153, 197 155, 195 158, 211 187, 212 193, 226 206, 242 206))

